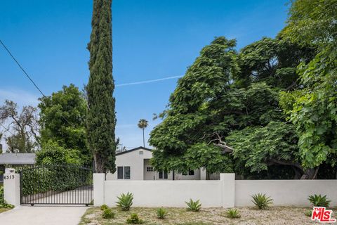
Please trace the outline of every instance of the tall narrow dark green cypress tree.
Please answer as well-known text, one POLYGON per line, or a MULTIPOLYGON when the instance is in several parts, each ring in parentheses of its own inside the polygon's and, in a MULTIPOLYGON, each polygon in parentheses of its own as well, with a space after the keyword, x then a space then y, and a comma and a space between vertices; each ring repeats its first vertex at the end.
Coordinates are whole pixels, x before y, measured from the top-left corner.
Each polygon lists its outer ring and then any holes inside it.
POLYGON ((90 51, 87 131, 96 172, 115 172, 116 115, 112 78, 112 0, 94 0, 90 51))

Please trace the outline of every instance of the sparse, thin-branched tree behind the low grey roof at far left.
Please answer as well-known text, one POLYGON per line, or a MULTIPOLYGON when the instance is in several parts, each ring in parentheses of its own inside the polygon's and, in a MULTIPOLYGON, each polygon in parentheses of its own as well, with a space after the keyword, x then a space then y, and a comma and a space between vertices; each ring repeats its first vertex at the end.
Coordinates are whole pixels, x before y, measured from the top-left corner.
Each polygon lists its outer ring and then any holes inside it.
MULTIPOLYGON (((6 100, 0 106, 0 123, 8 122, 6 143, 11 153, 34 153, 39 147, 39 124, 37 108, 24 106, 18 112, 18 105, 6 100)), ((2 135, 1 135, 2 136, 2 135)))

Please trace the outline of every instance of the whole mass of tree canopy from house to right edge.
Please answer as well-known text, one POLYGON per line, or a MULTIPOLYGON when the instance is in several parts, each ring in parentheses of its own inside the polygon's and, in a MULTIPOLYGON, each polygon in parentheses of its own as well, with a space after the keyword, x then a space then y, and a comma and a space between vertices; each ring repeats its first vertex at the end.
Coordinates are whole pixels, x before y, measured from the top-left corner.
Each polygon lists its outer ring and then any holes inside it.
POLYGON ((217 37, 201 50, 150 134, 156 169, 315 179, 324 165, 336 173, 336 1, 310 2, 293 2, 275 39, 236 51, 234 39, 217 37), (300 36, 307 20, 312 34, 300 36))

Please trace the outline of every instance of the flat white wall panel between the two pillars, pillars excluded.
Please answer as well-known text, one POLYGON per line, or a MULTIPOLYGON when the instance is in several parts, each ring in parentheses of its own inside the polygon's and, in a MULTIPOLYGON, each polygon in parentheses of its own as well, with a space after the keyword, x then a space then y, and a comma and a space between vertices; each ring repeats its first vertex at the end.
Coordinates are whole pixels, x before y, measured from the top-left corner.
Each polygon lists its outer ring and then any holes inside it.
POLYGON ((186 207, 190 198, 221 207, 220 191, 219 181, 105 181, 105 204, 115 206, 117 196, 131 192, 134 207, 186 207))

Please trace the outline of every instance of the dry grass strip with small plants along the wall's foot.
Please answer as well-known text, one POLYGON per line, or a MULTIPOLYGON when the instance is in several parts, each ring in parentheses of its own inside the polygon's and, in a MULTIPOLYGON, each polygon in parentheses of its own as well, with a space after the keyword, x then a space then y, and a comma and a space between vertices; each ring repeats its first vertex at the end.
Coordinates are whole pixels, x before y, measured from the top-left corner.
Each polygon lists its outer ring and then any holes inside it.
MULTIPOLYGON (((256 207, 238 207, 240 218, 230 219, 225 216, 228 209, 202 208, 195 213, 186 208, 164 207, 167 211, 165 219, 157 218, 157 208, 131 207, 130 211, 121 211, 112 208, 114 219, 103 219, 100 207, 91 207, 81 218, 79 225, 121 225, 126 224, 126 219, 131 213, 137 213, 144 224, 178 224, 178 225, 211 225, 211 224, 312 224, 305 211, 309 207, 270 207, 268 210, 257 210, 256 207)), ((334 209, 334 211, 337 209, 334 209)), ((333 217, 336 213, 333 214, 333 217)))

